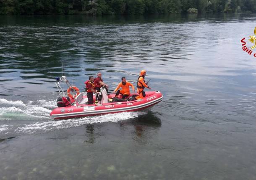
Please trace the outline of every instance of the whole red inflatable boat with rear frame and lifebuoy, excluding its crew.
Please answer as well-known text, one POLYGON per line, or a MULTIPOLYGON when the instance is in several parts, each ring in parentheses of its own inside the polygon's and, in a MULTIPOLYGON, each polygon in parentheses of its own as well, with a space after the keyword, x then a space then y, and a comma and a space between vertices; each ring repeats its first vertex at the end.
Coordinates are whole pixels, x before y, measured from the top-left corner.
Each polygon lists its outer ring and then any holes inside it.
MULTIPOLYGON (((115 97, 115 94, 107 95, 106 93, 106 96, 102 96, 102 100, 101 102, 99 102, 99 104, 88 105, 88 98, 86 96, 86 93, 79 93, 76 87, 72 87, 71 84, 69 84, 65 76, 63 76, 61 80, 57 80, 56 85, 61 94, 61 99, 65 100, 63 100, 64 102, 62 102, 63 105, 60 106, 58 104, 58 106, 60 107, 53 109, 53 111, 50 113, 51 117, 53 117, 54 119, 68 119, 74 117, 95 116, 99 114, 139 111, 154 106, 155 104, 162 101, 163 98, 162 94, 159 91, 148 91, 146 92, 146 96, 143 99, 123 102, 109 102, 110 99, 115 97), (70 87, 69 89, 71 89, 71 91, 74 90, 75 95, 72 94, 70 98, 65 98, 66 96, 64 95, 64 91, 63 89, 61 89, 61 86, 59 86, 59 83, 61 81, 65 81, 70 87), (60 89, 62 92, 60 91, 60 89)), ((138 94, 131 94, 130 97, 133 95, 138 94)))

